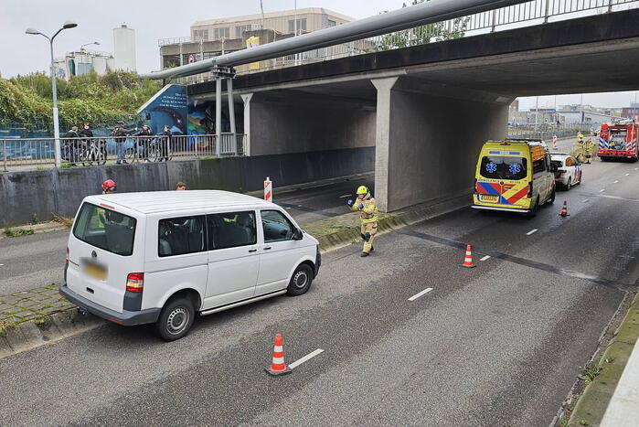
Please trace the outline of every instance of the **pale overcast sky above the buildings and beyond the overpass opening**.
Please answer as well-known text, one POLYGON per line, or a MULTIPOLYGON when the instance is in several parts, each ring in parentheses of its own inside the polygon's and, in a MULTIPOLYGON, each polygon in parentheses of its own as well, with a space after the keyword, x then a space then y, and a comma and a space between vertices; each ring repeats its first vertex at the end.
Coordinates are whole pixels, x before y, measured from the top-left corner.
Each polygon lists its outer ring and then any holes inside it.
MULTIPOLYGON (((405 0, 410 3, 409 0, 405 0)), ((263 0, 264 12, 293 9, 294 0, 263 0)), ((402 0, 297 0, 297 7, 325 7, 354 18, 377 15, 401 7, 402 0)), ((25 34, 27 27, 52 34, 67 19, 79 26, 56 37, 55 54, 99 41, 95 50, 112 52, 112 28, 122 22, 135 29, 139 72, 159 69, 157 39, 186 37, 197 20, 257 14, 260 0, 0 0, 0 73, 3 77, 48 70, 48 42, 25 34)), ((635 92, 587 94, 583 102, 623 107, 635 92)), ((539 106, 554 106, 554 97, 540 97, 539 106)), ((580 95, 558 96, 557 103, 579 103, 580 95)), ((522 98, 521 109, 535 107, 535 98, 522 98)))

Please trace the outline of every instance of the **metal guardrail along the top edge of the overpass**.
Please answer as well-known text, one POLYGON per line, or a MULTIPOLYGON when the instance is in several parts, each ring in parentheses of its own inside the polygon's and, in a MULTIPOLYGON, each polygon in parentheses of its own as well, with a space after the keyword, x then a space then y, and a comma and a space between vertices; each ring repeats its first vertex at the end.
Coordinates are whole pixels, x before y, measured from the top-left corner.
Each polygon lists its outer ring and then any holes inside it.
MULTIPOLYGON (((252 64, 241 65, 236 68, 236 71, 238 74, 249 74, 269 69, 294 67, 381 50, 409 48, 451 38, 477 36, 515 27, 529 27, 636 7, 639 7, 639 0, 532 0, 519 5, 511 5, 471 16, 413 27, 382 36, 367 37, 349 43, 309 50, 276 59, 261 60, 252 64)), ((175 81, 193 84, 208 80, 214 80, 214 77, 209 72, 176 79, 175 81)))

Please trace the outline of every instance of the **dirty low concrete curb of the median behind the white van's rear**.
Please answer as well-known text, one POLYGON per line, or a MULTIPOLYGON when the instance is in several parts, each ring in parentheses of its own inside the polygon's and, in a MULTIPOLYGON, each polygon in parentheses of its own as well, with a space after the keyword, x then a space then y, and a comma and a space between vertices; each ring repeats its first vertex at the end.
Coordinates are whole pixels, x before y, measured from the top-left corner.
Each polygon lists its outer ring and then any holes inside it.
POLYGON ((8 326, 0 331, 0 358, 88 331, 106 321, 94 315, 80 315, 76 308, 8 326))

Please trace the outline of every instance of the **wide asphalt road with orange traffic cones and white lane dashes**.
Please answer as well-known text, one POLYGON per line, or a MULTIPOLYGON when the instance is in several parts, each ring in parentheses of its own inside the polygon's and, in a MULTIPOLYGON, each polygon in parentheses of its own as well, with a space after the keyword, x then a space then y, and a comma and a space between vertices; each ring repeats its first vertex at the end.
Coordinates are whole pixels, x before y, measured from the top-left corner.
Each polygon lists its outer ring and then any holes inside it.
POLYGON ((330 252, 308 294, 203 317, 174 343, 109 324, 0 359, 0 420, 546 426, 635 289, 638 166, 585 165, 534 219, 464 208, 367 259, 330 252), (324 352, 271 378, 275 333, 289 363, 324 352))

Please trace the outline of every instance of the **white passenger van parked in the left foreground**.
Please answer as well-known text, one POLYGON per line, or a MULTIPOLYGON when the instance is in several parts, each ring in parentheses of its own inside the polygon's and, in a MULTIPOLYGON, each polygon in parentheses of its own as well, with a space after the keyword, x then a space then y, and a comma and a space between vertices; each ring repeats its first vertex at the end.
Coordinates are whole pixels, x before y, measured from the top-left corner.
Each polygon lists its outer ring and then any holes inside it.
POLYGON ((209 315, 308 291, 319 243, 279 206, 227 191, 85 197, 59 292, 120 325, 185 336, 209 315))

